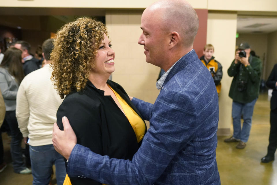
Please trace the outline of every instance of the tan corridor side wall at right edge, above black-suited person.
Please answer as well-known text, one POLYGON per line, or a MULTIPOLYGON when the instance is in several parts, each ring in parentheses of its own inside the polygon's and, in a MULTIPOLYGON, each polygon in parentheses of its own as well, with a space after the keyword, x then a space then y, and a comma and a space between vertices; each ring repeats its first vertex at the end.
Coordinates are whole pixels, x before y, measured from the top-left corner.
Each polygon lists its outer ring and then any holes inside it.
POLYGON ((277 31, 268 34, 266 79, 274 64, 277 64, 277 31))

